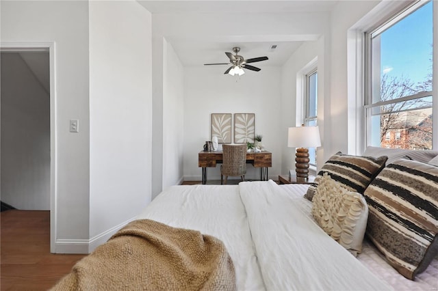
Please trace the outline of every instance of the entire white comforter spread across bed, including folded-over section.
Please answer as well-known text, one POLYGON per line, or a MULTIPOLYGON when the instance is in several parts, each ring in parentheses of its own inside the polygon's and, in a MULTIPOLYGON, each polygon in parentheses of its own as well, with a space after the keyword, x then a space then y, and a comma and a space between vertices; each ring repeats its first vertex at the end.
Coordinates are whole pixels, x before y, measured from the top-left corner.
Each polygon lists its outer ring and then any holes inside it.
POLYGON ((239 290, 391 290, 272 181, 172 186, 138 219, 222 240, 239 290))

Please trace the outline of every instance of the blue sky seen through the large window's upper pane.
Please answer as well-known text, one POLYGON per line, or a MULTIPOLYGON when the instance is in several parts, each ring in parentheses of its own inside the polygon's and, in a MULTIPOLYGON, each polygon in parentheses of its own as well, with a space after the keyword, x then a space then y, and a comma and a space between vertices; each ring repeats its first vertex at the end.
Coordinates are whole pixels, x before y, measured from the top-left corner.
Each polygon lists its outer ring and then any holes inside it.
POLYGON ((381 33, 381 73, 417 83, 432 71, 433 1, 381 33))

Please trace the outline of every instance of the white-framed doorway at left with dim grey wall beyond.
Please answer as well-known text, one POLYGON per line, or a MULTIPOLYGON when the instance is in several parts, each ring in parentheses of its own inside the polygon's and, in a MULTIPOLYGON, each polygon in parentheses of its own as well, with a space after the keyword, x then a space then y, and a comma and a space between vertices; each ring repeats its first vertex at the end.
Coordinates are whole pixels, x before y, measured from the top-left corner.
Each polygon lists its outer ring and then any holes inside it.
POLYGON ((55 249, 54 43, 0 45, 1 201, 49 210, 55 249))

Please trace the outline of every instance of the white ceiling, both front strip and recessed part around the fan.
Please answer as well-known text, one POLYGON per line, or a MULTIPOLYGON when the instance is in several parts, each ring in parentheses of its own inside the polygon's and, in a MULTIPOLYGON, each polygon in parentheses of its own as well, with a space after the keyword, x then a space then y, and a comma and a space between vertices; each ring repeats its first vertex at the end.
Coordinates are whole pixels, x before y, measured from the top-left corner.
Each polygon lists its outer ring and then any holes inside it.
MULTIPOLYGON (((193 14, 275 14, 296 12, 329 13, 338 1, 141 1, 138 2, 152 14, 186 14, 188 19, 193 14)), ((259 66, 281 66, 302 44, 283 36, 227 36, 218 39, 215 36, 197 36, 190 40, 183 38, 166 38, 175 49, 184 66, 201 66, 205 63, 227 63, 224 52, 232 53, 234 46, 240 46, 245 59, 269 57, 268 61, 254 63, 259 66), (271 50, 272 44, 277 48, 271 50)), ((224 70, 228 68, 223 65, 224 70)))

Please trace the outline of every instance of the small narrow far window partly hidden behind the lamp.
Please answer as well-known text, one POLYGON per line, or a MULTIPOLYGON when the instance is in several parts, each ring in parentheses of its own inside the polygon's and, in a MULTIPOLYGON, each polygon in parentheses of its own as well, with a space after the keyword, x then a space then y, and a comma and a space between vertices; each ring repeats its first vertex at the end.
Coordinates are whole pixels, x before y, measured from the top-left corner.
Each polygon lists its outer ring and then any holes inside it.
MULTIPOLYGON (((305 126, 316 126, 318 105, 318 71, 315 68, 305 76, 305 126)), ((309 164, 316 166, 316 148, 309 148, 309 164)))

